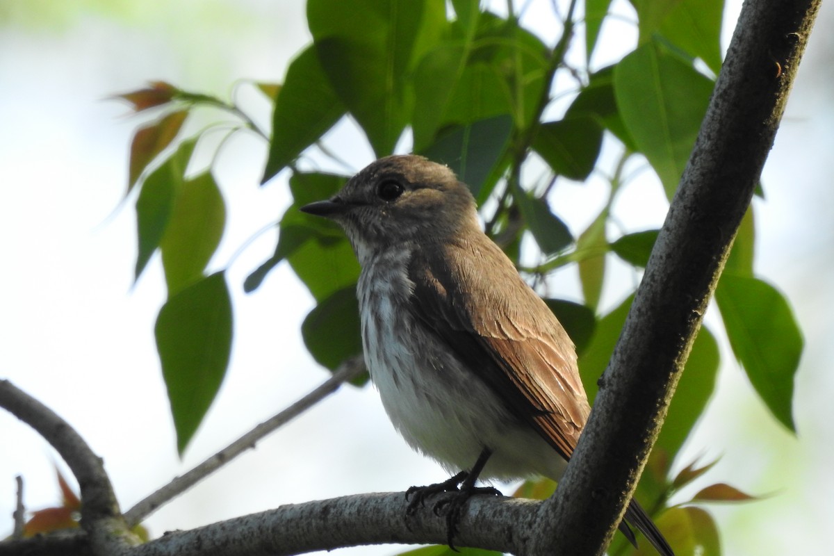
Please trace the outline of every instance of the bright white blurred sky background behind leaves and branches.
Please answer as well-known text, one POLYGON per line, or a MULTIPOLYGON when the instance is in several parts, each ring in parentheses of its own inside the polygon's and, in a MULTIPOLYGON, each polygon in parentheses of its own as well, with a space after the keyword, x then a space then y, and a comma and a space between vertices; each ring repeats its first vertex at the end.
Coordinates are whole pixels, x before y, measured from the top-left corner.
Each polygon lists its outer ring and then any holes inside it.
MULTIPOLYGON (((549 5, 532 0, 531 13, 544 13, 549 5)), ((725 48, 738 9, 735 3, 728 8, 725 48)), ((756 201, 757 271, 786 292, 806 335, 796 380, 799 438, 762 409, 725 348, 719 393, 677 466, 721 456, 699 488, 727 482, 766 496, 758 503, 710 507, 729 554, 822 554, 830 544, 832 18, 824 3, 766 166, 766 201, 756 201)), ((537 15, 530 20, 548 22, 537 15)), ((628 24, 621 27, 622 40, 633 40, 628 24)), ((237 79, 283 79, 289 59, 308 41, 299 0, 0 3, 0 378, 77 428, 103 456, 123 509, 327 374, 304 350, 299 324, 314 302, 288 267, 270 274, 254 295, 243 293, 245 276, 272 253, 275 236, 267 233, 229 268, 236 318, 232 367, 184 460, 178 460, 153 343, 164 297, 161 268, 154 259, 133 286, 133 198, 120 204, 130 135, 139 121, 127 118, 126 105, 108 96, 163 79, 226 97, 237 79)), ((247 87, 239 88, 241 103, 268 121, 267 103, 247 87)), ((196 132, 207 122, 190 129, 196 132)), ((361 168, 371 154, 354 137, 343 125, 330 145, 361 168)), ((220 152, 216 176, 229 222, 215 268, 224 267, 241 243, 279 218, 289 203, 283 175, 258 186, 265 148, 258 138, 240 135, 220 152)), ((647 174, 621 201, 628 218, 639 217, 632 221, 636 227, 640 218, 644 227, 659 218, 641 212, 646 202, 638 193, 659 195, 647 174)), ((564 184, 554 203, 576 230, 599 198, 593 185, 564 184)), ((623 288, 629 287, 633 278, 623 276, 623 288)), ((15 475, 23 474, 29 509, 58 503, 53 477, 58 458, 37 434, 3 412, 0 446, 3 537, 12 528, 15 475)), ((281 503, 403 490, 441 478, 435 463, 411 453, 397 437, 372 388, 344 388, 153 514, 146 525, 160 535, 281 503)))

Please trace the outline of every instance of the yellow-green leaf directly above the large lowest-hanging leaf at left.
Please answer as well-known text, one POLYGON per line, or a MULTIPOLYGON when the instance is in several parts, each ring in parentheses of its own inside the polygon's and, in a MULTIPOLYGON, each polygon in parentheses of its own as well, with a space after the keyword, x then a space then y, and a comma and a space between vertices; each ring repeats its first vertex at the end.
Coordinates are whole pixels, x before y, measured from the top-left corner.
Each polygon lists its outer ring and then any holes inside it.
POLYGON ((168 296, 203 278, 223 237, 226 206, 210 172, 184 182, 174 201, 162 241, 168 296))

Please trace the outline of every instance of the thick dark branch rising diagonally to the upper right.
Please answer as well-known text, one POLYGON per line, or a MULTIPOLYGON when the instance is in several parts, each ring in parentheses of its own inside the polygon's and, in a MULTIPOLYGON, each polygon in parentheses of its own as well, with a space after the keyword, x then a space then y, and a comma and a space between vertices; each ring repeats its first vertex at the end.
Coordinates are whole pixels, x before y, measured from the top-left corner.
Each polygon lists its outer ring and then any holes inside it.
POLYGON ((818 8, 819 0, 744 4, 585 433, 541 508, 531 553, 601 554, 610 542, 750 204, 818 8))

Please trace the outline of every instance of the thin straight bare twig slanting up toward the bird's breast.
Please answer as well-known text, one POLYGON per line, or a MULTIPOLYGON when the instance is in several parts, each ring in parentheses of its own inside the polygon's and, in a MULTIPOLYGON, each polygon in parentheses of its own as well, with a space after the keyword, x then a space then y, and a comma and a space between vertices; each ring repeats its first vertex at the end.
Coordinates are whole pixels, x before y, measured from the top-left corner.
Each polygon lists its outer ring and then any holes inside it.
POLYGON ((363 372, 364 363, 361 357, 347 359, 339 365, 339 368, 336 369, 330 378, 324 381, 321 386, 304 396, 304 398, 299 399, 299 401, 293 403, 289 408, 284 409, 268 421, 260 423, 250 430, 249 433, 244 434, 226 448, 215 453, 203 461, 203 463, 198 464, 197 467, 191 469, 188 473, 174 478, 170 483, 163 486, 163 488, 159 488, 156 492, 151 493, 147 498, 138 502, 133 508, 130 508, 124 514, 128 525, 133 527, 133 525, 147 518, 148 515, 156 511, 164 503, 182 494, 188 488, 191 488, 203 478, 208 477, 209 474, 214 473, 214 471, 223 467, 226 463, 229 463, 229 461, 244 453, 249 448, 254 448, 255 443, 267 434, 272 433, 276 428, 298 417, 299 414, 304 413, 304 411, 311 408, 315 403, 318 403, 329 394, 334 393, 342 383, 358 377, 363 372))

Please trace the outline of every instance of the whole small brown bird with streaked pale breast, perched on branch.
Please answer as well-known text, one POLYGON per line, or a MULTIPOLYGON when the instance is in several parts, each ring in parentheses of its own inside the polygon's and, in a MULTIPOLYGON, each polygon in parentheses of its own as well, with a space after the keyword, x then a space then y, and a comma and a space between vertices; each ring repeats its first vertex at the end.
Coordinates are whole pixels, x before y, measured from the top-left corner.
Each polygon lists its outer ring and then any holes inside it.
MULTIPOLYGON (((575 347, 481 231, 469 188, 445 166, 391 156, 301 210, 339 223, 353 244, 365 363, 394 427, 447 470, 464 470, 409 489, 414 503, 460 484, 450 543, 479 476, 560 478, 590 413, 575 347)), ((672 554, 635 500, 625 518, 672 554)))

